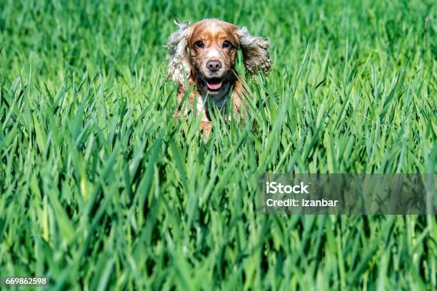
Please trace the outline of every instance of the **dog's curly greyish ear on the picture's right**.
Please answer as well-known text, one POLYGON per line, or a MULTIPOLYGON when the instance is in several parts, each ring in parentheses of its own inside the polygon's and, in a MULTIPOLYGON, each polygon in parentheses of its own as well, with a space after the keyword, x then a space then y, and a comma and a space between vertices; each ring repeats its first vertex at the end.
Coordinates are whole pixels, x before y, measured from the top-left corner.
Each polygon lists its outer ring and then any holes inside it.
POLYGON ((243 52, 243 63, 247 73, 253 74, 257 71, 268 72, 270 70, 270 58, 266 39, 259 36, 251 36, 246 27, 236 32, 241 51, 243 52))

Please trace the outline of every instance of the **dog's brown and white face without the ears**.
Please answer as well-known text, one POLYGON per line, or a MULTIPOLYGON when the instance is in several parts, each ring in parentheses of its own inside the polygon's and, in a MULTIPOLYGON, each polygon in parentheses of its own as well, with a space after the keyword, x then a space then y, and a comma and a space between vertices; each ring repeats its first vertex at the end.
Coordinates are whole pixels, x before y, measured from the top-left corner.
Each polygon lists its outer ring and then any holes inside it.
POLYGON ((197 85, 210 95, 220 93, 236 78, 234 69, 239 47, 237 27, 216 19, 193 25, 188 40, 189 62, 197 85))

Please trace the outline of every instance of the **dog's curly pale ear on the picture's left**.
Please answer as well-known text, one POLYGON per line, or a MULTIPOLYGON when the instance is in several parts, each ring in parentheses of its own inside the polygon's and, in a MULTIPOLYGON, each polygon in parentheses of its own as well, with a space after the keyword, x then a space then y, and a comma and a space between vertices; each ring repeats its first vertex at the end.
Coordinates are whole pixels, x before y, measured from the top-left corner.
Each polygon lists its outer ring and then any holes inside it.
POLYGON ((186 46, 188 45, 188 39, 191 35, 191 27, 189 24, 181 24, 176 20, 174 24, 178 26, 178 30, 171 34, 166 46, 166 48, 169 49, 167 58, 170 60, 167 74, 176 83, 184 84, 184 71, 187 78, 190 74, 190 64, 186 53, 186 46))

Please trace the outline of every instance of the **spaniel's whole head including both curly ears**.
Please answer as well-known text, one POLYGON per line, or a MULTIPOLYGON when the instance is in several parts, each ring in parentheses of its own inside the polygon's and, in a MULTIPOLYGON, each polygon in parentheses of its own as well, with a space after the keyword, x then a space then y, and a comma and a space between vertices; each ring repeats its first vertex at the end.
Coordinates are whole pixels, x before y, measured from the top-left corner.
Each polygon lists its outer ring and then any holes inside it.
POLYGON ((243 63, 248 73, 268 71, 268 41, 251 36, 246 27, 238 29, 233 24, 218 19, 205 19, 194 24, 179 24, 171 34, 169 48, 169 76, 184 84, 184 73, 191 76, 210 95, 228 87, 236 78, 234 72, 237 50, 243 52, 243 63), (227 86, 226 86, 227 85, 227 86))

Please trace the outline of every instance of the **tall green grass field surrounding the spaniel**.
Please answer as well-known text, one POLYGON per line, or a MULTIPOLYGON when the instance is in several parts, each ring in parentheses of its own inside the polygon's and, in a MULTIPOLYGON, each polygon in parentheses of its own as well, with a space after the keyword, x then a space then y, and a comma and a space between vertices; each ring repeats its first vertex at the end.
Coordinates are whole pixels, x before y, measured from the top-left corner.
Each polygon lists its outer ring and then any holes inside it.
POLYGON ((436 290, 436 216, 256 211, 261 173, 437 172, 436 5, 352 2, 0 1, 0 276, 436 290), (273 60, 250 118, 209 138, 172 118, 163 47, 207 17, 273 60))

